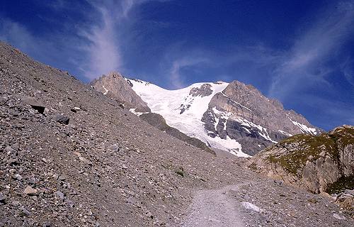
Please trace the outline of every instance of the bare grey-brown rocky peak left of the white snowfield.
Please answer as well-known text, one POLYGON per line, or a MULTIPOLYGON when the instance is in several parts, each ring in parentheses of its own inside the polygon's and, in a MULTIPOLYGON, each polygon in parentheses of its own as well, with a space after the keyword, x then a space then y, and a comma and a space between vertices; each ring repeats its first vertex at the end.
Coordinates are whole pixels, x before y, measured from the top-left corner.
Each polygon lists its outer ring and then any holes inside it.
POLYGON ((98 92, 120 101, 127 109, 135 108, 141 112, 150 111, 149 106, 142 101, 142 98, 133 91, 130 84, 118 72, 103 75, 94 79, 90 84, 98 92))

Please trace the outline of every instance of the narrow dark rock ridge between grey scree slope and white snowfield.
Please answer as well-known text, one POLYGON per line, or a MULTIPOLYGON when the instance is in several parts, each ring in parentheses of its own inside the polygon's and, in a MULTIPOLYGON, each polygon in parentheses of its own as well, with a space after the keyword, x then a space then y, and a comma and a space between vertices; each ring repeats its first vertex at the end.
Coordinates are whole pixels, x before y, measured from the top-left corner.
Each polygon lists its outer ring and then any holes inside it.
POLYGON ((197 138, 191 138, 185 133, 181 133, 176 128, 170 127, 166 124, 166 121, 163 116, 155 113, 142 114, 139 116, 144 121, 147 121, 150 125, 159 128, 159 130, 166 132, 167 134, 173 136, 174 138, 178 138, 178 140, 182 140, 185 143, 195 146, 196 148, 200 148, 201 150, 205 150, 208 153, 215 154, 213 150, 211 150, 205 143, 197 138))

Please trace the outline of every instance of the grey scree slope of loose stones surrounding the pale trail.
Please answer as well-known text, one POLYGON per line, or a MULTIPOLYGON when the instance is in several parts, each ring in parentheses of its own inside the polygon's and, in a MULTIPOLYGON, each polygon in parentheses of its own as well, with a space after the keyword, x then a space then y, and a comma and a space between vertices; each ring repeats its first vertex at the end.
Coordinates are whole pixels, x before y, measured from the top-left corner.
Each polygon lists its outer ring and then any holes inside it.
POLYGON ((0 122, 0 226, 187 226, 193 197, 214 190, 244 226, 354 223, 330 199, 177 140, 2 42, 0 122))

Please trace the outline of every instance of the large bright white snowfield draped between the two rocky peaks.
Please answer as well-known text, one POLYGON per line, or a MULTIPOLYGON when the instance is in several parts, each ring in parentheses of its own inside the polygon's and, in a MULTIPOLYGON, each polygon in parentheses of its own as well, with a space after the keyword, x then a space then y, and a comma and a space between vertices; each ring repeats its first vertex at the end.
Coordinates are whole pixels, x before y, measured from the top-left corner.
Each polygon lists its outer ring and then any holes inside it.
MULTIPOLYGON (((212 138, 207 135, 208 132, 201 121, 212 97, 218 92, 222 92, 228 83, 196 83, 183 89, 167 90, 139 79, 130 79, 130 82, 133 85, 132 89, 147 103, 152 112, 161 114, 169 126, 177 128, 190 137, 202 140, 212 148, 228 150, 241 157, 250 157, 242 152, 241 144, 235 140, 229 137, 226 140, 219 137, 212 138), (202 84, 210 84, 212 94, 208 96, 190 95, 190 89, 200 88, 202 84), (182 114, 181 106, 187 107, 182 114)), ((216 126, 217 124, 215 124, 216 126)))

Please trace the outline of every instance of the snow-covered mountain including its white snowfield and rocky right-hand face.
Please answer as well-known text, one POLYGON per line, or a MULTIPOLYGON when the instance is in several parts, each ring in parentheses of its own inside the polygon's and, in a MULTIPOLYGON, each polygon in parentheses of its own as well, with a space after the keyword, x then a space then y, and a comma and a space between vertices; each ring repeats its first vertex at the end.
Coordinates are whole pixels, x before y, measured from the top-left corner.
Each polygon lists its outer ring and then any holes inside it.
MULTIPOLYGON (((234 155, 249 157, 290 135, 321 133, 303 116, 285 110, 279 101, 268 99, 256 88, 241 82, 205 82, 167 90, 139 79, 123 78, 169 126, 202 140, 211 148, 234 155)), ((111 90, 122 87, 100 80, 101 87, 111 90)), ((101 89, 101 92, 106 91, 101 89)), ((142 114, 136 108, 130 111, 142 114)))

